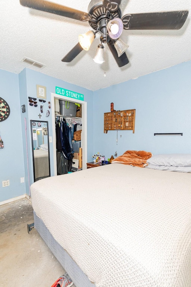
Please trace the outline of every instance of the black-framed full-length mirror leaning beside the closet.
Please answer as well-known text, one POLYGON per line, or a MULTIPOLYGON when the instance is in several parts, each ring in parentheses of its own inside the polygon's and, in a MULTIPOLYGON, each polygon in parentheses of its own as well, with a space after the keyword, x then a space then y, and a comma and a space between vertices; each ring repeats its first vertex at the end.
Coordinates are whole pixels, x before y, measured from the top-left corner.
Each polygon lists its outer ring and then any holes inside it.
POLYGON ((48 122, 30 121, 34 182, 50 177, 48 122))

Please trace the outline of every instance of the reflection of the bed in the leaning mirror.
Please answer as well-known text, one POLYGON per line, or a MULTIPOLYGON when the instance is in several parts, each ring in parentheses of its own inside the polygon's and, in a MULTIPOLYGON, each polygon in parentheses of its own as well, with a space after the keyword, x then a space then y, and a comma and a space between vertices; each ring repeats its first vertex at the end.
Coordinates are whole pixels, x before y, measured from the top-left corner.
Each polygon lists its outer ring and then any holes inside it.
POLYGON ((48 150, 34 150, 35 179, 49 177, 48 150))

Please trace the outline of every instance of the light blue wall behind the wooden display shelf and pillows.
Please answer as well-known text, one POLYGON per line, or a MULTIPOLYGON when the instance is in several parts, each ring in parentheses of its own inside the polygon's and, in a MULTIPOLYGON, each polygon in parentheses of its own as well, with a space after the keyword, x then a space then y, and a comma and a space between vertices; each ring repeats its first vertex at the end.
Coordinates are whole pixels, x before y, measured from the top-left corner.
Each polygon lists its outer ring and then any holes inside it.
POLYGON ((94 92, 94 131, 94 152, 106 158, 127 150, 191 153, 191 61, 94 92), (118 131, 118 145, 117 131, 103 132, 111 102, 115 110, 136 109, 135 133, 118 131))

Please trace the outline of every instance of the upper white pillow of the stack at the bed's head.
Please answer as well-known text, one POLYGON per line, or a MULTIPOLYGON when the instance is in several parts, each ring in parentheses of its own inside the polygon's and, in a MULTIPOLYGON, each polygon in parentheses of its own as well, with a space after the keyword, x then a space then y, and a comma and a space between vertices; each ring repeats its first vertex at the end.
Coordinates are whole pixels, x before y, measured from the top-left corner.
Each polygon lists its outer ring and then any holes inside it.
POLYGON ((191 154, 155 154, 147 162, 150 165, 191 166, 191 154))

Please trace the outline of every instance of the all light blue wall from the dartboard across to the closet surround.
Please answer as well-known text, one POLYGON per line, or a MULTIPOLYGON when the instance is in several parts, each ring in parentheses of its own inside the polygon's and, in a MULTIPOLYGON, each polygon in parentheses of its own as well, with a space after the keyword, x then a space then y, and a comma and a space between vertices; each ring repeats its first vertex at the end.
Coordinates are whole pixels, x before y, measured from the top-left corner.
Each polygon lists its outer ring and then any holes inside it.
MULTIPOLYGON (((62 87, 84 94, 84 101, 87 102, 87 155, 91 160, 93 153, 93 91, 78 87, 76 85, 58 80, 30 69, 24 69, 19 75, 0 70, 0 90, 3 99, 10 105, 10 116, 0 122, 0 134, 4 141, 4 148, 0 150, 1 175, 0 175, 0 202, 6 199, 17 197, 22 194, 29 194, 29 185, 33 183, 33 162, 30 120, 39 119, 40 105, 43 105, 43 114, 40 120, 48 121, 49 136, 52 136, 52 121, 50 116, 46 117, 48 102, 51 101, 51 93, 55 93, 55 87, 62 87), (36 85, 46 87, 46 103, 38 101, 38 107, 29 106, 28 97, 36 98, 36 85), (22 113, 21 105, 25 105, 26 112, 22 113), (26 134, 25 134, 26 121, 26 134), (26 137, 27 146, 26 148, 26 137), (28 169, 27 169, 28 151, 28 169), (25 183, 20 183, 20 177, 25 177, 25 183), (10 180, 10 186, 2 188, 3 180, 10 180)), ((54 111, 53 111, 54 112, 54 111)), ((53 145, 50 143, 50 168, 53 175, 53 145)))

